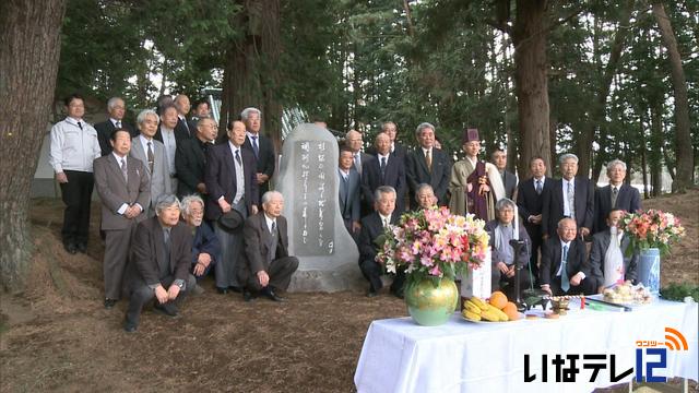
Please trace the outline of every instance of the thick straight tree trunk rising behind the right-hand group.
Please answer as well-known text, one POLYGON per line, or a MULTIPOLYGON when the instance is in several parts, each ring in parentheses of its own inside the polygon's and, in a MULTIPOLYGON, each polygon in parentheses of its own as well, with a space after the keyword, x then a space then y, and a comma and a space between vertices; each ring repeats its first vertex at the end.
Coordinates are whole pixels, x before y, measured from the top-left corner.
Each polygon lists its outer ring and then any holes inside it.
POLYGON ((546 57, 546 14, 548 1, 517 1, 514 81, 519 109, 520 168, 541 155, 550 163, 548 80, 546 57))

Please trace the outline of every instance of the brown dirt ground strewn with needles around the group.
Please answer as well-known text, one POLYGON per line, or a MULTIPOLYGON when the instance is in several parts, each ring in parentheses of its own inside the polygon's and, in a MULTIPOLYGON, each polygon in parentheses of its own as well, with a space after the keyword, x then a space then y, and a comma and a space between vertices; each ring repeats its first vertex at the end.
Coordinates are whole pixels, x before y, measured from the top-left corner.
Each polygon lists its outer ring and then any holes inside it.
MULTIPOLYGON (((644 201, 687 227, 663 259, 663 285, 699 283, 698 206, 699 191, 644 201)), ((97 204, 92 217, 87 254, 69 255, 59 240, 62 204, 35 201, 27 289, 0 301, 1 392, 353 392, 369 323, 407 315, 388 294, 286 294, 285 303, 246 303, 239 294, 216 294, 206 279, 182 317, 144 311, 139 332, 127 334, 126 302, 112 310, 102 305, 97 204)))

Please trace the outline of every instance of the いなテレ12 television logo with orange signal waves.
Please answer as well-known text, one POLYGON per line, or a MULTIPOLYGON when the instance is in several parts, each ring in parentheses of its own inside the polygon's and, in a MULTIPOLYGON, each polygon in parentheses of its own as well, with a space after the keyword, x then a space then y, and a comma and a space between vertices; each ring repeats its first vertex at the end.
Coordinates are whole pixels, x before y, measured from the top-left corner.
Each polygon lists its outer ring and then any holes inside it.
POLYGON ((673 327, 665 327, 665 341, 637 340, 636 365, 629 369, 619 369, 615 354, 555 354, 549 357, 543 354, 541 358, 540 374, 532 373, 530 355, 524 355, 524 382, 576 382, 578 378, 589 376, 589 381, 594 382, 600 371, 609 370, 609 380, 619 382, 636 370, 636 381, 667 382, 667 377, 660 376, 661 370, 667 368, 667 350, 688 352, 689 345, 685 336, 673 327), (550 359, 550 360, 549 360, 550 359), (552 367, 549 372, 548 367, 552 367), (581 371, 582 370, 582 371, 581 371), (584 371, 584 372, 583 372, 584 371), (582 373, 582 374, 581 374, 582 373), (549 378, 549 374, 553 378, 549 378))

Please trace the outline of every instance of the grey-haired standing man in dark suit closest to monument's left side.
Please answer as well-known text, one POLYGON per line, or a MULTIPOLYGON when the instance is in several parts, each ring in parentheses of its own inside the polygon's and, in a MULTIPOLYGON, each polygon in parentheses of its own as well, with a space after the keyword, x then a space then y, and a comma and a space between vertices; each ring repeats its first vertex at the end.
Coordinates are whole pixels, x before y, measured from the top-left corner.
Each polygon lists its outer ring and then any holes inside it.
MULTIPOLYGON (((246 127, 246 139, 242 148, 252 153, 257 164, 256 179, 260 195, 270 190, 270 179, 274 175, 276 154, 272 140, 260 133, 262 112, 257 108, 246 108, 240 112, 240 119, 246 127)), ((260 201, 256 201, 259 203, 260 201)))

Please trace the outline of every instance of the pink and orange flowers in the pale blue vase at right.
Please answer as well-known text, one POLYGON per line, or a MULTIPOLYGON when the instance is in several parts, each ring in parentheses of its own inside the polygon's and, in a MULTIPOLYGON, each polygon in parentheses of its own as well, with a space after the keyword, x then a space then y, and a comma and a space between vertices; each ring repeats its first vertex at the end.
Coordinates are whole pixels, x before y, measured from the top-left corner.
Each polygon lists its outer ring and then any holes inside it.
POLYGON ((679 224, 679 218, 672 213, 653 209, 626 213, 619 219, 618 227, 629 235, 627 254, 657 248, 662 255, 666 255, 671 243, 679 241, 685 236, 685 228, 679 224))

